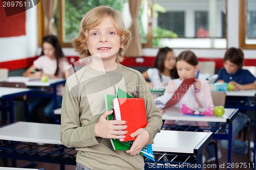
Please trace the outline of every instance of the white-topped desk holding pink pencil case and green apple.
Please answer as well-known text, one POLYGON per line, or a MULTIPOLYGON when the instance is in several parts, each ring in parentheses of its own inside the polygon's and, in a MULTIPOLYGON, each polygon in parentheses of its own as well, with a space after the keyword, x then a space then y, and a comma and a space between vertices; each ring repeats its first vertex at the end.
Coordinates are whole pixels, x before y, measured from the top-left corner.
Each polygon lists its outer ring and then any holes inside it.
MULTIPOLYGON (((204 111, 206 108, 197 109, 204 111)), ((232 132, 232 120, 236 117, 238 109, 226 109, 225 114, 221 117, 218 116, 196 116, 196 115, 185 115, 180 112, 180 108, 169 107, 165 109, 163 113, 163 120, 183 120, 183 121, 197 121, 197 122, 216 122, 216 123, 227 123, 228 132, 232 132)), ((205 127, 204 127, 205 128, 205 127)), ((219 128, 219 127, 218 127, 219 128)), ((210 128, 214 132, 214 139, 225 139, 228 140, 228 162, 231 163, 231 140, 232 133, 223 133, 224 131, 216 131, 216 128, 210 128), (222 132, 222 133, 218 133, 222 132)))

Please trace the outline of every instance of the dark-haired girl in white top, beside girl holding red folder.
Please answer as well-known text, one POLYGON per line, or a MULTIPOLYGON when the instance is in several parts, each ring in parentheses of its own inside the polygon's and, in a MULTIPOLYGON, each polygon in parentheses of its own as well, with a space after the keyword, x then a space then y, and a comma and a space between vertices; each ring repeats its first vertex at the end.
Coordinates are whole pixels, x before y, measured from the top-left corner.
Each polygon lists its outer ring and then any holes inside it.
POLYGON ((176 57, 173 49, 169 47, 160 48, 156 56, 154 68, 147 69, 142 73, 142 76, 150 81, 147 83, 150 87, 166 86, 170 80, 178 78, 175 63, 176 57))

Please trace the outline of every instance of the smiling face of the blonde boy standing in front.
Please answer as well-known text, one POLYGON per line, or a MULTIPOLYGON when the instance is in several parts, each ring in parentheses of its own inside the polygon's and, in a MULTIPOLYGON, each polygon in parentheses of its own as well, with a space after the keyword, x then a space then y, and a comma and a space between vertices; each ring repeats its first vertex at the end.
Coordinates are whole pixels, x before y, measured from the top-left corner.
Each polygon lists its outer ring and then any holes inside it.
POLYGON ((107 15, 98 26, 89 31, 88 50, 91 55, 99 53, 102 60, 115 61, 119 48, 120 36, 111 17, 107 15))

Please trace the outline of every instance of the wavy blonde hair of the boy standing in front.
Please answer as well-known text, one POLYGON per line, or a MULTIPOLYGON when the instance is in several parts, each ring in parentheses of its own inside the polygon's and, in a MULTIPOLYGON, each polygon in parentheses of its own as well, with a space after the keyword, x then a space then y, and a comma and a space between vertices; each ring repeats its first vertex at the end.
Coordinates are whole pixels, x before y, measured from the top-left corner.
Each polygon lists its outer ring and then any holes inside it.
POLYGON ((122 14, 108 6, 93 8, 83 16, 80 23, 79 35, 73 39, 75 50, 80 54, 81 58, 91 56, 87 48, 88 32, 98 26, 107 15, 111 17, 117 34, 120 36, 120 45, 122 45, 117 53, 116 62, 123 61, 121 53, 128 47, 131 41, 131 32, 125 29, 122 14))

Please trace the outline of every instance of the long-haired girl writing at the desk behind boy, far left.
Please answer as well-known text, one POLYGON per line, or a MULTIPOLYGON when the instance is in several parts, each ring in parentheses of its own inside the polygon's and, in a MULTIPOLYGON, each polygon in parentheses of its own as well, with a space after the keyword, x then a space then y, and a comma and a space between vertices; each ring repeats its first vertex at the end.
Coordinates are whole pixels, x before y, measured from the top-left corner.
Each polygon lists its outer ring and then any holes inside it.
MULTIPOLYGON (((66 78, 66 68, 68 66, 69 62, 61 50, 58 38, 54 35, 48 35, 42 39, 40 57, 23 73, 23 76, 33 78, 46 76, 50 79, 66 78)), ((57 103, 59 106, 61 105, 62 95, 63 85, 59 85, 57 86, 57 103)), ((32 121, 41 122, 38 117, 38 108, 42 105, 47 105, 44 108, 44 114, 48 118, 47 122, 53 118, 54 101, 48 98, 36 98, 29 102, 29 114, 32 121)))

